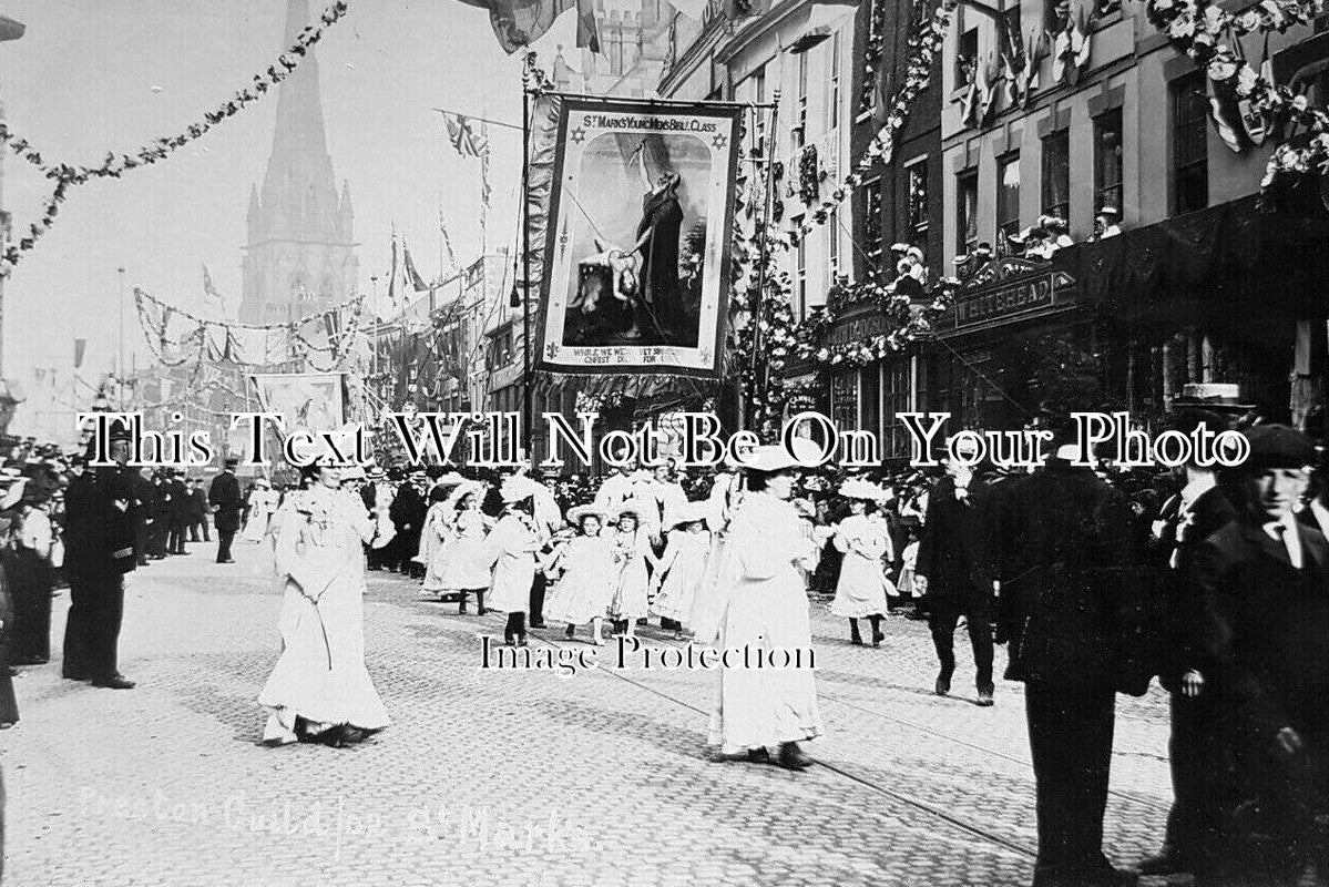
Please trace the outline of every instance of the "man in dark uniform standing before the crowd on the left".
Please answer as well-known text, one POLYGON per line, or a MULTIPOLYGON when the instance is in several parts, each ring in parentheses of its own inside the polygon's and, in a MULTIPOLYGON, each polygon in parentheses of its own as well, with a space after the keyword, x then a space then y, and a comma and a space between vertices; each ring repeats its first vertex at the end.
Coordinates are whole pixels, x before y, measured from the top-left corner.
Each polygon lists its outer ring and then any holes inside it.
POLYGON ((69 574, 69 618, 65 624, 64 677, 94 686, 128 690, 134 682, 117 668, 120 625, 125 609, 125 573, 134 555, 134 475, 126 432, 110 435, 116 465, 93 468, 65 495, 65 567, 69 574))

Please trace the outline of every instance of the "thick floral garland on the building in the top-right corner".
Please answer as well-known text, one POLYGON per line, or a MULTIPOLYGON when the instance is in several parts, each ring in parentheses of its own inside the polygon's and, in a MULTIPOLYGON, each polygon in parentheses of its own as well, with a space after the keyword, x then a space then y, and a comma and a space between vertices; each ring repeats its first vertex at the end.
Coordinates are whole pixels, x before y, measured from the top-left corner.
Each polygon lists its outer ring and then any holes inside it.
POLYGON ((1312 172, 1329 172, 1329 114, 1310 108, 1305 96, 1272 82, 1268 72, 1256 72, 1245 60, 1240 39, 1312 25, 1325 8, 1325 0, 1261 0, 1244 12, 1229 13, 1204 0, 1148 0, 1150 21, 1208 74, 1215 96, 1249 102, 1272 124, 1267 129, 1280 144, 1269 157, 1261 189, 1312 172), (1300 132, 1282 138, 1289 126, 1300 132))

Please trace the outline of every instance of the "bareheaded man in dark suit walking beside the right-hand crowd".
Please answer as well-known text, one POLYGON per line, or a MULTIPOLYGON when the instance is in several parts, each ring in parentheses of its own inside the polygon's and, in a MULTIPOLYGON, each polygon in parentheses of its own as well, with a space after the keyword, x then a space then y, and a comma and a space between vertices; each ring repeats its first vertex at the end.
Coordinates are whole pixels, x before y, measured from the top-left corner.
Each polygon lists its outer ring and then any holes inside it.
POLYGON ((936 693, 950 692, 956 672, 954 634, 964 617, 974 648, 978 705, 993 703, 993 602, 995 567, 990 547, 990 491, 974 476, 971 442, 958 442, 944 477, 928 496, 928 513, 918 540, 914 586, 922 589, 928 626, 941 673, 936 693))

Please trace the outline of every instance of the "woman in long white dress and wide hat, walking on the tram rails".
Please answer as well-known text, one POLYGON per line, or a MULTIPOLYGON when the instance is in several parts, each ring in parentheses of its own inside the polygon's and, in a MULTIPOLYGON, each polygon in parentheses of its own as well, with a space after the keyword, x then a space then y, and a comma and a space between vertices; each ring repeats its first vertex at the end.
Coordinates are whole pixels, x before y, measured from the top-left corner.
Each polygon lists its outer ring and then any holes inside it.
POLYGON ((726 533, 718 590, 724 596, 722 649, 746 654, 720 668, 710 743, 720 759, 771 761, 791 770, 812 763, 799 742, 823 734, 812 672, 812 626, 800 568, 815 564, 809 525, 789 497, 799 469, 784 447, 759 447, 747 460, 748 492, 726 533), (788 668, 756 668, 755 657, 788 668), (797 658, 795 658, 797 657, 797 658))

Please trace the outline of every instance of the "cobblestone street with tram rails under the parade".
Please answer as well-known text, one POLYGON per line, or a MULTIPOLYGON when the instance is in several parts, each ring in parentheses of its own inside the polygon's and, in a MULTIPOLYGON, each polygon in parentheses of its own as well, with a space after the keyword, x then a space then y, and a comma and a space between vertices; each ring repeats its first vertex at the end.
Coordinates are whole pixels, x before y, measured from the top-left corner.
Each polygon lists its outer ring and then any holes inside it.
MULTIPOLYGON (((368 666, 393 725, 363 746, 264 749, 255 696, 280 596, 259 549, 199 544, 129 577, 132 692, 16 680, 0 734, 7 883, 93 884, 1022 884, 1034 859, 1019 686, 974 705, 932 694, 925 626, 881 649, 815 604, 828 737, 801 774, 707 759, 710 672, 480 670, 501 617, 457 616, 371 573, 368 666)), ((68 593, 56 601, 58 641, 68 593)), ((537 632, 532 650, 565 642, 537 632)), ((654 629, 651 644, 674 645, 654 629)), ((58 644, 56 645, 58 646, 58 644)), ((571 644, 589 649, 581 641, 571 644)), ((1003 662, 998 653, 998 669, 1003 662)), ((613 648, 602 652, 611 665, 613 648)), ((1118 705, 1107 851, 1156 848, 1170 787, 1158 690, 1118 705)))

